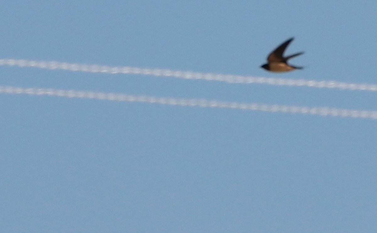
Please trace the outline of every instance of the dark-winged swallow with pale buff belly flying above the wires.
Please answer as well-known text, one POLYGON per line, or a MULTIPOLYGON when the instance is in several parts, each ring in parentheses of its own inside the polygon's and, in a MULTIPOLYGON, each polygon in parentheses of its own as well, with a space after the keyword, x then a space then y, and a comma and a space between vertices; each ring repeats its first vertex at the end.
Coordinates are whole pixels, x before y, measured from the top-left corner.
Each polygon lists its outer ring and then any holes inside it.
POLYGON ((303 67, 291 66, 288 65, 287 61, 291 58, 297 57, 298 55, 303 54, 304 52, 299 52, 297 54, 290 55, 288 57, 283 57, 284 51, 291 43, 294 38, 290 38, 284 43, 280 44, 274 51, 271 52, 270 55, 267 57, 268 63, 262 65, 261 67, 271 71, 271 72, 288 72, 293 71, 295 69, 302 69, 303 67))

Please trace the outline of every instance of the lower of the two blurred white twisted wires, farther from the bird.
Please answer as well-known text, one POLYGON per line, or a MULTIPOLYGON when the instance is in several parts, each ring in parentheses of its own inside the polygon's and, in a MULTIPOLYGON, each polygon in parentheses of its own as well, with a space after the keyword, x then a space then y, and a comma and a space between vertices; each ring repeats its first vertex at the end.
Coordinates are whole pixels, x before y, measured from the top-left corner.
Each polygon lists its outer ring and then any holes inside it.
POLYGON ((267 105, 267 104, 245 104, 235 102, 222 102, 214 100, 198 100, 198 99, 178 99, 178 98, 163 98, 150 96, 135 96, 127 94, 90 92, 90 91, 76 91, 76 90, 58 90, 58 89, 43 89, 43 88, 22 88, 12 86, 0 86, 0 94, 27 94, 27 95, 49 95, 67 98, 86 98, 96 100, 109 101, 125 101, 125 102, 144 102, 152 104, 167 104, 174 106, 198 106, 209 108, 228 108, 253 110, 262 112, 283 112, 283 113, 300 113, 321 116, 342 116, 353 118, 369 118, 377 119, 377 111, 366 110, 349 110, 336 109, 329 107, 298 107, 298 106, 284 106, 284 105, 267 105))

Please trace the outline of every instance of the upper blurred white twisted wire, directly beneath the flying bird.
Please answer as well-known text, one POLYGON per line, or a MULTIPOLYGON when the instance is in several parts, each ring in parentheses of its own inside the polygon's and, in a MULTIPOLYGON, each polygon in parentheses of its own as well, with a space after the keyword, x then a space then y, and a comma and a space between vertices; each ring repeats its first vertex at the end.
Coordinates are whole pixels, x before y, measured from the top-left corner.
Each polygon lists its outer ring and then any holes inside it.
POLYGON ((250 77, 241 75, 224 75, 212 73, 197 73, 191 71, 172 71, 169 69, 144 69, 138 67, 116 67, 116 66, 101 66, 101 65, 86 65, 78 63, 66 63, 57 61, 32 61, 32 60, 15 60, 15 59, 0 59, 0 66, 19 66, 19 67, 37 67, 41 69, 63 69, 67 71, 79 71, 90 73, 107 73, 107 74, 138 74, 138 75, 152 75, 163 77, 174 77, 194 80, 209 80, 221 81, 227 83, 243 83, 243 84, 268 84, 276 86, 306 86, 317 88, 337 88, 348 90, 367 90, 377 91, 377 85, 373 84, 357 84, 357 83, 343 83, 337 81, 316 81, 316 80, 295 80, 289 78, 265 78, 265 77, 250 77))

